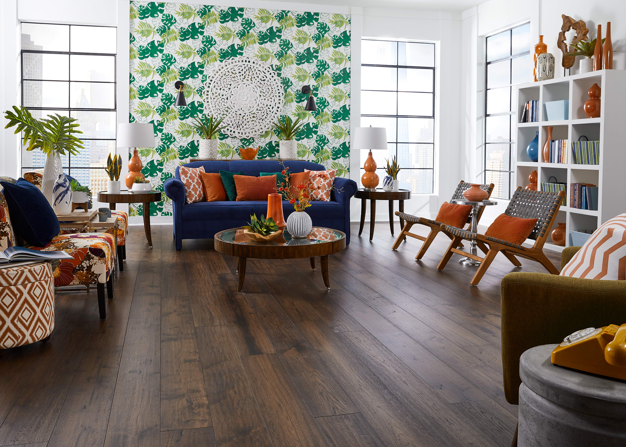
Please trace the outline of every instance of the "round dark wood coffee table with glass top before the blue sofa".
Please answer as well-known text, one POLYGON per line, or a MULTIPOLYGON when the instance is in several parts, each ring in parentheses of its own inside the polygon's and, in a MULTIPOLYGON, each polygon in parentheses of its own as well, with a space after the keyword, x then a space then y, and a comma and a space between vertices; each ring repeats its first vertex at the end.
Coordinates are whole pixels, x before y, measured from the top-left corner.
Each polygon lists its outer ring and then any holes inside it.
POLYGON ((313 227, 304 239, 292 238, 287 229, 269 242, 254 242, 244 235, 244 229, 235 228, 220 231, 215 235, 217 252, 239 257, 239 287, 244 285, 245 260, 257 259, 294 259, 310 258, 311 269, 315 270, 315 257, 321 256, 322 278, 327 289, 331 289, 328 280, 328 255, 341 252, 346 248, 346 234, 339 230, 313 227))

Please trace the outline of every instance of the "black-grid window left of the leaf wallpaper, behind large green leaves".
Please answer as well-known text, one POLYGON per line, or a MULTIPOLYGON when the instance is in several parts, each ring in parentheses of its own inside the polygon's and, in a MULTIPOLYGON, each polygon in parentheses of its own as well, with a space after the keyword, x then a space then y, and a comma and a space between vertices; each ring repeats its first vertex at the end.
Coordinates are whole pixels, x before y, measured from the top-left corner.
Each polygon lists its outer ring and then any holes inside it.
MULTIPOLYGON (((76 118, 84 149, 61 156, 63 172, 92 192, 106 190, 105 166, 115 154, 117 30, 110 26, 21 24, 21 102, 35 118, 76 118)), ((22 173, 46 162, 22 149, 22 173)))

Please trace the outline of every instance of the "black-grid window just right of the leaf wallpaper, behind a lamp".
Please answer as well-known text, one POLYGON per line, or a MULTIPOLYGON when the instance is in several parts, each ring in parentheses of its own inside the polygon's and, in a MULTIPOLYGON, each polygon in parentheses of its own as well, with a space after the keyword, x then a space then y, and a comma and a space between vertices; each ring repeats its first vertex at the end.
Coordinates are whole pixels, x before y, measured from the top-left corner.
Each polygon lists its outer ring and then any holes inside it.
POLYGON ((396 155, 400 187, 432 194, 434 43, 363 39, 361 48, 361 126, 387 129, 389 148, 372 151, 381 183, 386 159, 396 155))

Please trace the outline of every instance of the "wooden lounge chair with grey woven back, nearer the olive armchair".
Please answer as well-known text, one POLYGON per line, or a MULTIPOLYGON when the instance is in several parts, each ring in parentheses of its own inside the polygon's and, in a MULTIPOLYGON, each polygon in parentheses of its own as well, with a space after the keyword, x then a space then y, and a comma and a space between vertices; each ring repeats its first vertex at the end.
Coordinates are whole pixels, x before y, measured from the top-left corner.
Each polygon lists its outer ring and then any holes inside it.
MULTIPOLYGON (((539 262, 543 267, 548 270, 553 275, 558 275, 557 267, 550 262, 548 257, 543 253, 543 244, 545 244, 546 239, 548 238, 548 232, 550 228, 552 228, 552 224, 554 219, 557 216, 558 208, 560 208, 561 203, 565 200, 565 191, 560 191, 558 193, 554 192, 546 192, 546 191, 531 191, 531 190, 523 190, 521 187, 518 187, 513 193, 513 198, 511 198, 511 202, 506 208, 505 214, 513 217, 523 217, 529 218, 529 208, 533 205, 533 199, 535 203, 542 201, 543 205, 537 205, 538 209, 541 210, 541 213, 535 213, 535 217, 537 217, 537 223, 535 225, 535 229, 533 229, 533 233, 529 236, 529 239, 535 239, 535 244, 531 248, 519 247, 515 244, 510 244, 509 242, 495 240, 483 234, 476 235, 463 235, 463 233, 467 233, 466 231, 457 231, 455 232, 449 226, 441 225, 441 229, 451 237, 452 242, 450 243, 446 254, 443 255, 441 261, 439 261, 439 265, 437 265, 437 270, 443 270, 448 264, 448 260, 450 257, 456 253, 459 255, 467 256, 471 259, 475 259, 480 261, 482 264, 476 270, 476 274, 469 282, 471 285, 478 285, 480 280, 485 275, 485 272, 493 262, 493 259, 496 257, 498 252, 501 252, 505 255, 506 259, 510 260, 515 267, 521 267, 521 263, 516 256, 523 257, 525 259, 534 260, 539 262), (521 204, 521 206, 520 206, 521 204), (521 209, 520 209, 521 208, 521 209), (455 234, 456 233, 456 234, 455 234), (476 240, 476 245, 481 249, 483 253, 485 253, 485 257, 475 256, 468 254, 467 252, 461 251, 457 249, 458 243, 461 240, 476 240)), ((530 210, 530 212, 532 212, 530 210)))

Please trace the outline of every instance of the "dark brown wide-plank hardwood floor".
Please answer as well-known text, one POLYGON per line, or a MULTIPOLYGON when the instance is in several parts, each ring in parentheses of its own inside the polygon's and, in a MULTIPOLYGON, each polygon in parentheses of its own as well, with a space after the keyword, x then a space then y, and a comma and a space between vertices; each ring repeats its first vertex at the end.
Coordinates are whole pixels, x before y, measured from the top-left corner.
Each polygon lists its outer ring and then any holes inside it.
POLYGON ((106 320, 95 288, 57 293, 50 341, 0 350, 0 446, 508 446, 500 280, 543 267, 498 255, 472 287, 456 255, 436 270, 443 235, 416 262, 357 230, 330 291, 309 259, 249 259, 237 292, 212 241, 131 227, 106 320))

